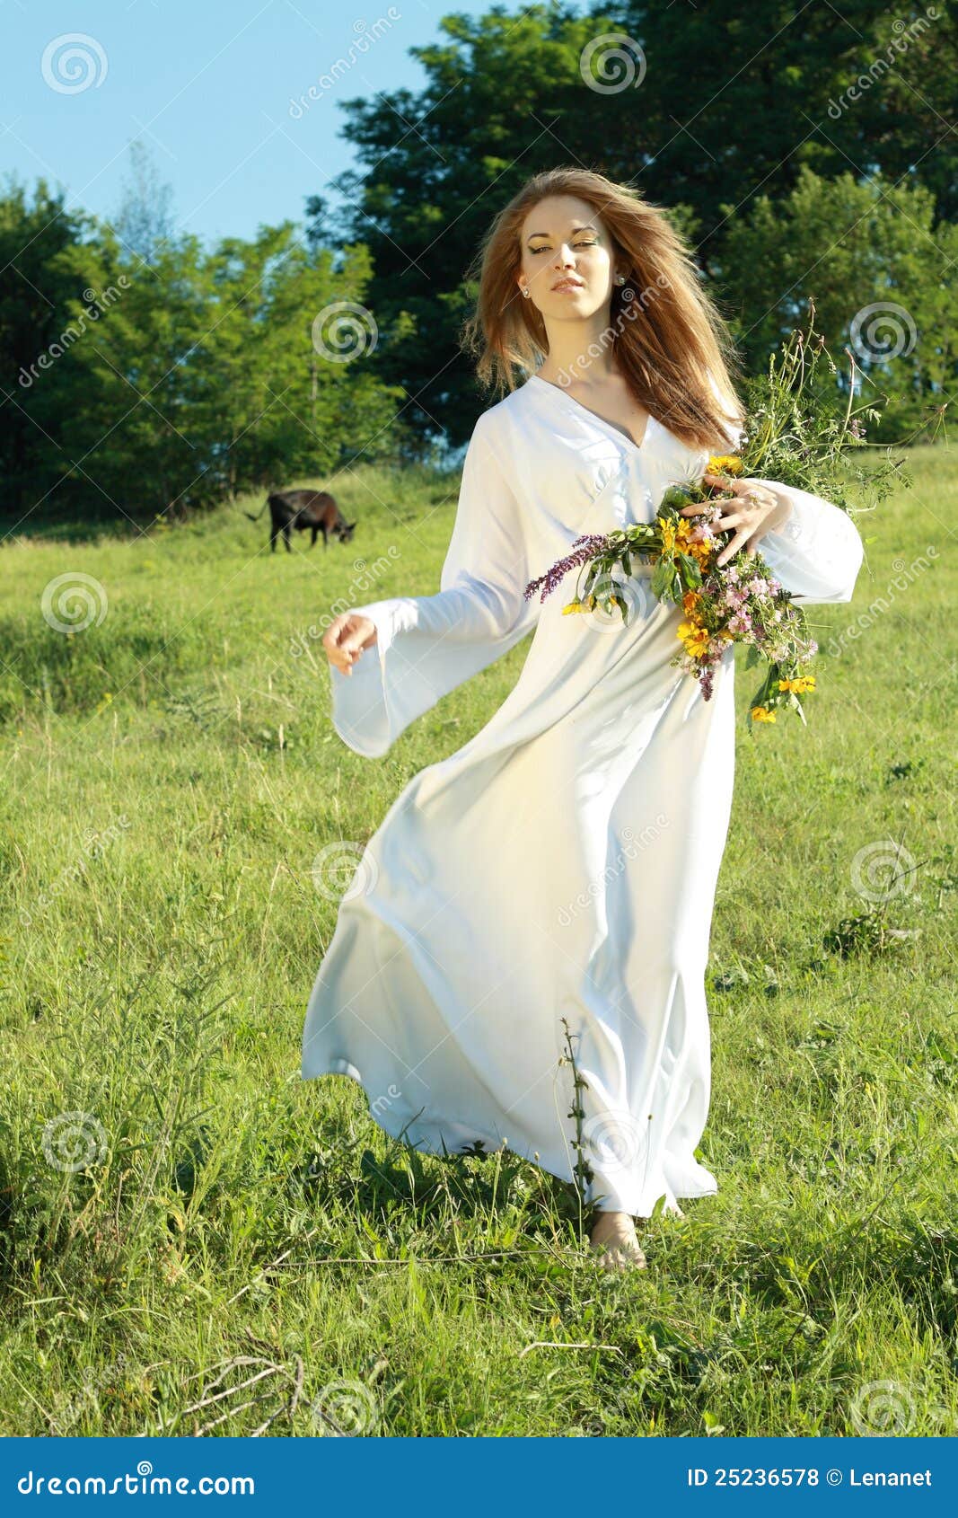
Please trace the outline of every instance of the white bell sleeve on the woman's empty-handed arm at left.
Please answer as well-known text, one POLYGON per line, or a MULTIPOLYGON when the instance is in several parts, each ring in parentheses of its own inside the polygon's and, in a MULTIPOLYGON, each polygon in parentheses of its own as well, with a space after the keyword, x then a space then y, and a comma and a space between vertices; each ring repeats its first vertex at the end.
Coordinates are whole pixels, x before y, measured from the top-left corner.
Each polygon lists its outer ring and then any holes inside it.
POLYGON ((343 674, 329 665, 332 727, 354 753, 384 754, 448 691, 501 659, 539 618, 525 600, 527 522, 483 413, 469 440, 452 536, 436 595, 351 607, 377 641, 343 674))

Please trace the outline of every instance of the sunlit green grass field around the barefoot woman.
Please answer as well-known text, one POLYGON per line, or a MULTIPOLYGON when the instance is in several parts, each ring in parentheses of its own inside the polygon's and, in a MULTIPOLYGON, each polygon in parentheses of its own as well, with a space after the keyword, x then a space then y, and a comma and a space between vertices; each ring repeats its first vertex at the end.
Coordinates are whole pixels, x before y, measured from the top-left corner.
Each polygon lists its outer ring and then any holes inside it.
POLYGON ((809 609, 841 639, 809 727, 750 736, 739 665, 700 1151, 720 1192, 654 1217, 621 1277, 572 1187, 419 1155, 345 1076, 299 1078, 336 923, 317 852, 358 849, 525 653, 384 759, 329 727, 320 618, 437 589, 455 481, 337 481, 360 527, 325 554, 270 554, 240 510, 261 498, 6 539, 3 1435, 955 1433, 958 468, 931 446, 858 519, 853 603, 809 609), (49 625, 64 574, 93 578, 99 625, 49 625))

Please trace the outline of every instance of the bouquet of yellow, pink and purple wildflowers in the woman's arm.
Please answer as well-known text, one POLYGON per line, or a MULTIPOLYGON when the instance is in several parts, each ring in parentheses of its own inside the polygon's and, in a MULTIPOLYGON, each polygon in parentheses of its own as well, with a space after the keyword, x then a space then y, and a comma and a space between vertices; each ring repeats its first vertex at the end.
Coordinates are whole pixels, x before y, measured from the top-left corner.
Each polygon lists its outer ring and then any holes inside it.
MULTIPOLYGON (((779 367, 773 355, 768 376, 750 383, 750 399, 755 399, 747 407, 739 454, 709 458, 704 472, 747 478, 764 474, 765 478, 826 496, 847 510, 844 490, 849 474, 856 477, 856 484, 881 496, 891 489, 888 481, 900 471, 900 460, 888 461, 884 472, 867 475, 852 466, 849 454, 864 446, 861 414, 876 420, 879 411, 864 405, 852 410, 853 383, 847 404, 838 413, 834 399, 829 404, 814 396, 817 364, 824 360, 832 375, 838 370, 823 339, 812 345, 812 328, 814 305, 808 337, 794 331, 783 345, 779 367)), ((830 389, 834 395, 835 386, 830 389)), ((638 562, 648 563, 653 595, 680 606, 683 612, 677 627, 682 651, 673 663, 698 680, 704 700, 712 695, 715 665, 726 647, 730 642, 745 644, 745 668, 762 659, 767 662, 765 677, 748 706, 748 726, 774 723, 783 707, 796 710, 805 723, 802 697, 815 689, 815 676, 806 666, 818 645, 808 635, 803 610, 774 578, 761 553, 742 546, 726 563, 717 563, 735 536, 735 530, 717 531, 711 525, 721 518, 721 505, 695 518, 680 515, 682 507, 692 502, 724 504, 729 498, 704 481, 671 484, 653 522, 577 537, 572 553, 537 580, 530 580, 525 597, 540 589, 540 600, 545 600, 569 571, 578 569, 575 595, 563 607, 563 615, 594 612, 609 616, 618 610, 627 622, 629 578, 638 562), (616 578, 616 571, 626 580, 616 578)))

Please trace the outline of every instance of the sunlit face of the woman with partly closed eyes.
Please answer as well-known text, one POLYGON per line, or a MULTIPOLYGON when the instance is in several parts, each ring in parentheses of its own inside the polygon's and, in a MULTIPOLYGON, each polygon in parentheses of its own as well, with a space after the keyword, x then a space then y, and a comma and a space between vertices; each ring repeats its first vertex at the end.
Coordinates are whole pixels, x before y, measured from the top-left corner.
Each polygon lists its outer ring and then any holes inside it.
POLYGON ((519 235, 519 288, 530 291, 544 317, 581 320, 607 307, 615 276, 612 241, 588 200, 547 196, 528 213, 519 235))

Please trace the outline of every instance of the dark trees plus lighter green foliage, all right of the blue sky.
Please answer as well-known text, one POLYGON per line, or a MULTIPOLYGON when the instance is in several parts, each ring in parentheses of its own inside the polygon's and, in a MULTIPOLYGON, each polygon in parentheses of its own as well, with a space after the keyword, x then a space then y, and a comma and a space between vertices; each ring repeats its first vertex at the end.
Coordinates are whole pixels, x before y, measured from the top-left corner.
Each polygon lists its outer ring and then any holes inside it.
MULTIPOLYGON (((418 428, 439 419, 452 442, 468 439, 481 402, 457 345, 455 293, 496 211, 562 164, 598 168, 668 208, 756 369, 793 325, 789 302, 817 296, 838 351, 853 316, 885 298, 920 331, 914 405, 943 398, 937 381, 950 395, 958 49, 953 8, 937 11, 905 21, 884 0, 856 0, 841 14, 806 6, 797 24, 782 0, 748 14, 736 0, 585 14, 551 0, 443 17, 445 38, 411 49, 421 91, 345 102, 358 167, 339 181, 352 235, 370 249, 370 304, 386 322, 399 311, 414 322, 416 335, 377 367, 416 398, 418 428), (632 38, 642 59, 633 50, 632 74, 619 61, 606 80, 622 87, 597 91, 583 50, 609 33, 632 38), (416 131, 398 134, 398 120, 416 131), (856 193, 843 187, 850 172, 856 193)), ((903 392, 900 378, 878 383, 903 392)))

